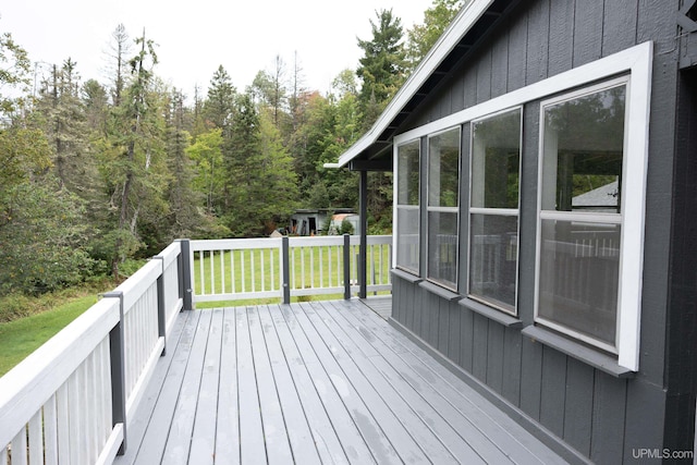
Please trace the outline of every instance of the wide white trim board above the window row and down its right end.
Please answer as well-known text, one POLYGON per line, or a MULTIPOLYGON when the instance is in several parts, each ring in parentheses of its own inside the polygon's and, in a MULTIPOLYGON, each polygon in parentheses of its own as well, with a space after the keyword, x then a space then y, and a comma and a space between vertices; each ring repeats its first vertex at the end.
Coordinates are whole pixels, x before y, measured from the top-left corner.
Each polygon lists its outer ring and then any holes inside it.
MULTIPOLYGON (((623 254, 621 279, 626 283, 620 296, 619 360, 622 367, 637 371, 639 368, 639 322, 641 306, 641 276, 644 265, 644 217, 646 204, 646 171, 648 163, 648 123, 651 99, 651 66, 653 44, 646 41, 609 57, 592 61, 576 69, 557 74, 538 83, 513 90, 509 94, 466 108, 440 120, 407 131, 394 137, 394 146, 429 136, 448 127, 464 124, 506 108, 541 100, 558 93, 571 90, 589 83, 608 79, 627 73, 629 85, 625 105, 628 108, 626 121, 626 152, 643 158, 623 167, 626 192, 622 210, 625 215, 622 232, 622 247, 634 250, 623 254), (627 184, 628 183, 628 184, 627 184), (631 198, 628 198, 631 197, 631 198), (631 234, 625 234, 631 231, 631 234)), ((541 125, 540 125, 541 127, 541 125)), ((395 149, 396 150, 396 149, 395 149)), ((538 220, 539 221, 539 220, 538 220)), ((458 267, 462 264, 458 264, 458 267)))

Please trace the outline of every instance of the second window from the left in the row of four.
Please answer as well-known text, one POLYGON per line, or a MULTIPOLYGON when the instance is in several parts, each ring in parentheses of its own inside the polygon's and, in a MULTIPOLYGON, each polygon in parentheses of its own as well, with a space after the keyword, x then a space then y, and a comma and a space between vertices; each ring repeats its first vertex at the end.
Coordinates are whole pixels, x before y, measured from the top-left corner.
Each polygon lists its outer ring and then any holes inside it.
POLYGON ((457 287, 460 127, 428 138, 427 277, 457 287))

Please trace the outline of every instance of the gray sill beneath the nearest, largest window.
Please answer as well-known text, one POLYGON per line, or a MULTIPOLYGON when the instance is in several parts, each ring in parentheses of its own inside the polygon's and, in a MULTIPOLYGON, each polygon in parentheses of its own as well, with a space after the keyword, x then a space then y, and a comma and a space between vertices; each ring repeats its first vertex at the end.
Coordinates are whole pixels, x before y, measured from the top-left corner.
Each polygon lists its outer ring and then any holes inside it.
POLYGON ((551 331, 536 326, 529 326, 523 329, 523 331, 521 332, 534 341, 539 341, 545 345, 555 348, 559 352, 568 355, 570 357, 584 362, 592 366, 594 368, 604 371, 608 375, 614 376, 615 378, 634 377, 634 371, 617 365, 616 359, 594 351, 592 348, 589 348, 577 342, 570 341, 568 339, 563 338, 559 334, 554 334, 551 331))

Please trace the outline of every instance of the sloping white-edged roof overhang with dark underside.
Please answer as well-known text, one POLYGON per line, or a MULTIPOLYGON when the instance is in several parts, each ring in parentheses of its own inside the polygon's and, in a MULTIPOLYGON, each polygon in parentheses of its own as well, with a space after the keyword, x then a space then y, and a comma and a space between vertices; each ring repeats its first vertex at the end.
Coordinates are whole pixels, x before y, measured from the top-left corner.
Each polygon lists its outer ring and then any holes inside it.
POLYGON ((337 163, 326 163, 325 168, 391 171, 392 139, 402 123, 460 68, 487 33, 517 2, 474 0, 463 8, 372 127, 342 154, 337 163))

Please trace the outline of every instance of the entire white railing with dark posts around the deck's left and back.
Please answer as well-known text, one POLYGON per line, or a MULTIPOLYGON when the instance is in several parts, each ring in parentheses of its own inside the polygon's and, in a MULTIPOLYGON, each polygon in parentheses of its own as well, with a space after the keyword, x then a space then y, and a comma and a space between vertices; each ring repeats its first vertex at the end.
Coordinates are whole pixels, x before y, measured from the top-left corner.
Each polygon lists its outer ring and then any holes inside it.
MULTIPOLYGON (((111 463, 127 448, 180 310, 230 298, 348 298, 359 289, 358 241, 175 241, 0 378, 0 465, 111 463)), ((391 256, 390 236, 368 236, 368 292, 391 289, 391 256)))

